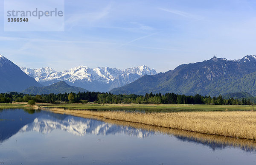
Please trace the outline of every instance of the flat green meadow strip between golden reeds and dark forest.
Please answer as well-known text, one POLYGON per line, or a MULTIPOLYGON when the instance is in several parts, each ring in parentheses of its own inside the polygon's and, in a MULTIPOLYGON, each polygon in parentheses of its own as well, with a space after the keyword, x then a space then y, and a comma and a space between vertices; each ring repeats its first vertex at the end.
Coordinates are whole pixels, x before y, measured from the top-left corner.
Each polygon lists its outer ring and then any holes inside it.
POLYGON ((184 105, 184 104, 44 104, 38 106, 67 109, 97 109, 97 110, 143 110, 147 112, 176 111, 251 111, 256 106, 238 105, 184 105))

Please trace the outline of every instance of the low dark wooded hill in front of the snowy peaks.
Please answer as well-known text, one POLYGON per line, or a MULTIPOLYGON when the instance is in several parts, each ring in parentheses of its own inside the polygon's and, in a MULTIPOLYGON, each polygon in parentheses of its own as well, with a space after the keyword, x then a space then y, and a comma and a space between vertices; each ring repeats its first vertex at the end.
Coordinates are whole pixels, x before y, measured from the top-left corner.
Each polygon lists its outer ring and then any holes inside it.
POLYGON ((88 90, 80 87, 70 86, 64 81, 59 81, 57 83, 54 83, 46 87, 32 86, 22 91, 22 93, 26 93, 30 95, 42 95, 42 94, 50 94, 50 93, 58 94, 58 93, 65 93, 65 92, 78 93, 78 92, 88 92, 88 90))

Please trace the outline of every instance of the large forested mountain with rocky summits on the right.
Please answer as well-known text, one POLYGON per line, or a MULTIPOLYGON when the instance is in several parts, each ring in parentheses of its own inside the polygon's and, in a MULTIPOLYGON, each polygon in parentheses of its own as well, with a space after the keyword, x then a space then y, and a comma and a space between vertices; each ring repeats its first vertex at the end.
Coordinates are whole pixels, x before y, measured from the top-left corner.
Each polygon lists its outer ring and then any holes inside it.
POLYGON ((239 60, 213 56, 203 62, 182 64, 165 73, 145 75, 110 92, 141 95, 146 92, 174 92, 216 96, 241 91, 256 96, 256 56, 244 56, 239 60))

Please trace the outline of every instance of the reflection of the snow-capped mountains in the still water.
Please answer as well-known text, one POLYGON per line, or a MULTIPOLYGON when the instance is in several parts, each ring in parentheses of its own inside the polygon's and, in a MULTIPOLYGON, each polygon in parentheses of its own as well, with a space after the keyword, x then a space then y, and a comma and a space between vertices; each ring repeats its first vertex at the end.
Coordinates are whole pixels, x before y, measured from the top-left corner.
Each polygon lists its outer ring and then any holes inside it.
POLYGON ((118 126, 111 123, 105 123, 99 120, 67 116, 64 119, 56 119, 49 115, 36 117, 32 123, 26 124, 20 129, 20 132, 37 131, 49 134, 55 129, 70 132, 75 135, 85 136, 86 134, 109 135, 109 134, 127 134, 138 138, 145 138, 153 135, 154 132, 143 129, 136 129, 128 126, 118 126))

